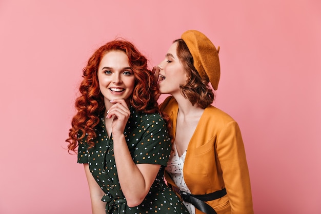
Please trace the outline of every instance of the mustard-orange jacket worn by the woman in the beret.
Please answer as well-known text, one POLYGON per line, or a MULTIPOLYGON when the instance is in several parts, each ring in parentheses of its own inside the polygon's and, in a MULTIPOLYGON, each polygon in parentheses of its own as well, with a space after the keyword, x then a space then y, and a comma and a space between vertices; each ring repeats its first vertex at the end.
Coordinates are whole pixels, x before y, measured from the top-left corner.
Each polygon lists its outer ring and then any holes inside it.
MULTIPOLYGON (((169 96, 162 104, 176 133, 178 104, 169 96)), ((253 213, 249 170, 242 135, 227 113, 209 106, 201 116, 187 147, 184 180, 192 194, 208 194, 226 188, 226 196, 207 202, 218 214, 253 213)), ((167 182, 174 185, 169 174, 167 182)), ((203 213, 196 209, 196 214, 203 213)))

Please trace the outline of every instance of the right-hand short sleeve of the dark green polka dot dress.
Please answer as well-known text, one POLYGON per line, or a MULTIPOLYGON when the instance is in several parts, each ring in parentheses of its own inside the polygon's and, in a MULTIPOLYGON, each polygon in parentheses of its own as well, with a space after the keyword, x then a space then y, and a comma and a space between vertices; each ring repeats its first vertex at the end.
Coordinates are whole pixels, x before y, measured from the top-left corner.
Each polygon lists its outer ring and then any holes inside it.
MULTIPOLYGON (((135 164, 167 165, 171 141, 165 121, 159 114, 147 114, 141 118, 137 132, 143 132, 133 154, 135 164)), ((138 139, 135 139, 138 140, 138 139)))

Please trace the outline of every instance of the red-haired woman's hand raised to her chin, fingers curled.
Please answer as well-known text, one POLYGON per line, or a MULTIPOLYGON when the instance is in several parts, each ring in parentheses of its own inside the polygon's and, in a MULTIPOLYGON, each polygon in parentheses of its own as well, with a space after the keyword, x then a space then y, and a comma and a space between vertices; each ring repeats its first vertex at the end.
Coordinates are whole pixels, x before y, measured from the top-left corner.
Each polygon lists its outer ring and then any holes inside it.
POLYGON ((124 134, 130 116, 130 110, 127 103, 123 99, 112 100, 110 102, 114 105, 108 110, 106 118, 112 119, 111 128, 113 136, 124 134))

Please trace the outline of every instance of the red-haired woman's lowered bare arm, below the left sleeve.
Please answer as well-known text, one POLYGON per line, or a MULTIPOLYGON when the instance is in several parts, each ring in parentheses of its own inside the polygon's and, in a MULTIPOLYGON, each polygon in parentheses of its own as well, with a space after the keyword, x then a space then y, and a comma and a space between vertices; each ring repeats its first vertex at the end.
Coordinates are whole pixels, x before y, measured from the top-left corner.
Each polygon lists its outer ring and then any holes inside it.
POLYGON ((105 193, 90 173, 89 165, 84 164, 84 168, 89 185, 92 214, 106 214, 106 203, 101 200, 105 193))

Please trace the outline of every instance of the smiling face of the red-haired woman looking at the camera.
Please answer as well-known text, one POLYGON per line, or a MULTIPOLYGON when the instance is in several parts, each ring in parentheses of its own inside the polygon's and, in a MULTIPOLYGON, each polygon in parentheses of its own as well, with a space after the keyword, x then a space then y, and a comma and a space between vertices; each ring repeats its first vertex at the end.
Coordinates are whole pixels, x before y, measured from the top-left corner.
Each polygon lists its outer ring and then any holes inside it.
POLYGON ((97 75, 105 104, 115 99, 124 99, 129 103, 135 87, 135 76, 123 51, 107 52, 99 63, 97 75))

